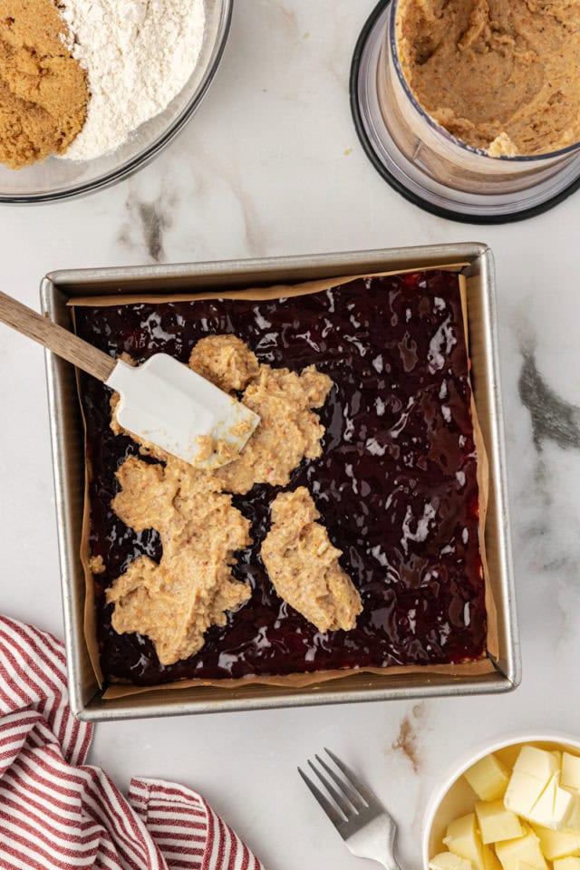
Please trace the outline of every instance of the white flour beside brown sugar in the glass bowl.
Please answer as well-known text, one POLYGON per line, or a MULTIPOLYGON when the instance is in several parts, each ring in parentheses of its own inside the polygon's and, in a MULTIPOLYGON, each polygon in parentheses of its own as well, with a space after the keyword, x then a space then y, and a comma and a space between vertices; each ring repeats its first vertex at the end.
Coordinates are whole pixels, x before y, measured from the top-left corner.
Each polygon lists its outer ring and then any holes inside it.
POLYGON ((92 160, 163 111, 198 60, 204 0, 62 0, 89 78, 87 120, 64 154, 92 160))

